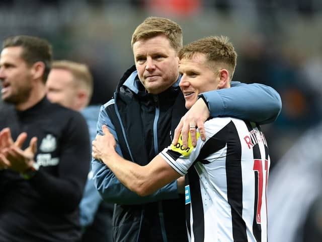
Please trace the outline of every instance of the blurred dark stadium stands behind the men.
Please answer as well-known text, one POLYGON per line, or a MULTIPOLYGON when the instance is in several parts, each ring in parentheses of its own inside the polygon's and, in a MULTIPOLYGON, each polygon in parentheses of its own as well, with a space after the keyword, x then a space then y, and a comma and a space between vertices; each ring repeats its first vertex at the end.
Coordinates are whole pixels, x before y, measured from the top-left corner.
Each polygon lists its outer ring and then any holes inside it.
POLYGON ((0 37, 47 38, 55 59, 90 66, 91 103, 110 99, 133 64, 131 34, 147 16, 169 17, 184 31, 184 44, 227 35, 238 61, 235 81, 274 87, 283 108, 264 126, 272 168, 294 140, 322 114, 322 1, 319 0, 1 0, 0 37))

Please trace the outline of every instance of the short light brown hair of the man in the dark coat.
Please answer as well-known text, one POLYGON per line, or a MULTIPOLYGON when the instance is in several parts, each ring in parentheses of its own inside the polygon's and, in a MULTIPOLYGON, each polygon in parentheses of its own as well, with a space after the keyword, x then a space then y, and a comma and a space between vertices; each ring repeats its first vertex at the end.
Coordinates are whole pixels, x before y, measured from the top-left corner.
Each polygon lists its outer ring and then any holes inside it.
POLYGON ((161 17, 148 17, 137 26, 132 35, 131 47, 133 48, 133 44, 140 39, 149 39, 157 35, 165 35, 177 52, 182 47, 182 28, 180 25, 161 17))

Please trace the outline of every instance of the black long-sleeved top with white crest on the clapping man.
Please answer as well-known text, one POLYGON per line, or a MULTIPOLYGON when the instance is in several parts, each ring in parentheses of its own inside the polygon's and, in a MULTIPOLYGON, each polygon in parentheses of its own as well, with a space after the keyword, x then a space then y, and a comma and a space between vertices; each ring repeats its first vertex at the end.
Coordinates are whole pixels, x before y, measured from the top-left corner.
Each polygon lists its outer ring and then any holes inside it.
POLYGON ((81 236, 78 204, 91 159, 87 124, 81 113, 46 98, 25 111, 1 109, 0 130, 10 127, 13 139, 22 132, 37 137, 29 180, 0 171, 1 241, 76 241, 81 236))

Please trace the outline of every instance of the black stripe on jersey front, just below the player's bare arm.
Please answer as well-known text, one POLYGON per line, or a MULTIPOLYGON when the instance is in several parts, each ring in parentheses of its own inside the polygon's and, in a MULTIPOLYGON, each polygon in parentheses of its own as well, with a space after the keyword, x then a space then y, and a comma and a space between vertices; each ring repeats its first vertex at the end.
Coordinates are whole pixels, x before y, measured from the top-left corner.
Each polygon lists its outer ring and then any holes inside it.
MULTIPOLYGON (((193 217, 193 234, 195 242, 204 242, 205 238, 205 220, 204 220, 204 210, 202 203, 202 196, 200 191, 200 179, 195 167, 191 167, 188 171, 189 187, 191 193, 191 208, 193 217)), ((187 214, 187 209, 186 209, 187 214)), ((189 213, 190 215, 190 213, 189 213)), ((189 216, 190 218, 190 216, 189 216)), ((188 219, 188 217, 187 217, 188 219)), ((190 219, 187 220, 187 224, 190 225, 190 219)), ((189 226, 188 226, 189 227, 189 226)), ((191 231, 190 231, 191 234, 191 231)))

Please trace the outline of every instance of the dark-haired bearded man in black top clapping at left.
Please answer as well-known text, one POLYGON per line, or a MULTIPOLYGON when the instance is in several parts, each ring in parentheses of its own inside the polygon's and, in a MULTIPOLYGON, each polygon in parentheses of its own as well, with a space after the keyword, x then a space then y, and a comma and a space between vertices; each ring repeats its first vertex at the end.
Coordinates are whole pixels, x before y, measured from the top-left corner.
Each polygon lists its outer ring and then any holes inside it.
POLYGON ((79 112, 46 99, 50 66, 46 40, 5 39, 2 99, 13 105, 8 115, 0 115, 1 241, 61 242, 81 236, 78 205, 89 170, 88 128, 79 112))

